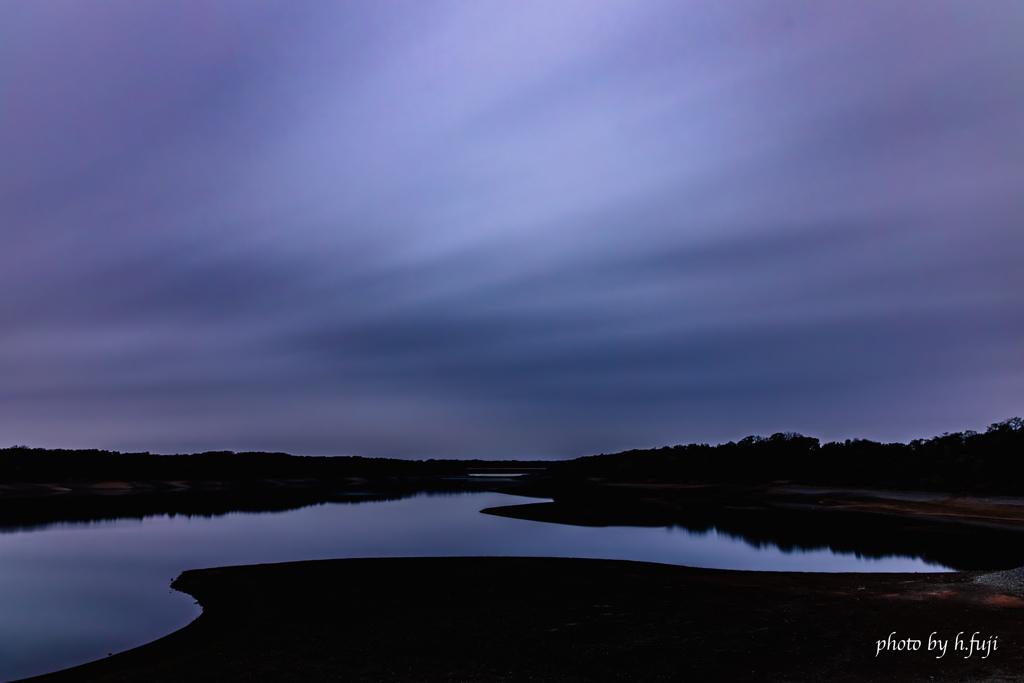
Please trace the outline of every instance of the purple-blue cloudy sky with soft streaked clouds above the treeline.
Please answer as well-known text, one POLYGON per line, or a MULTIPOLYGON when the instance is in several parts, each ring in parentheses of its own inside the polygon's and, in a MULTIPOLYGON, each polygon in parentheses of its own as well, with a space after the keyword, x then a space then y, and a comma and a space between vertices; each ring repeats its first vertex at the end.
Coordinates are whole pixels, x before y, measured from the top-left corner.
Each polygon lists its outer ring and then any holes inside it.
POLYGON ((1024 415, 1024 3, 3 0, 0 443, 1024 415))

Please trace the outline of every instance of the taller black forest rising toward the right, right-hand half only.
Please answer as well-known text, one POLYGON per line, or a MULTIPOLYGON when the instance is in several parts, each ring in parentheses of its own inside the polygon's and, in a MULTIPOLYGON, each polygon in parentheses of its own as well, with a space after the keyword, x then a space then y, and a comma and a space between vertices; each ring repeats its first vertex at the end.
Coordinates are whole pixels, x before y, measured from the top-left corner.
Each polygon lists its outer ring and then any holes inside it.
POLYGON ((612 481, 800 484, 1024 494, 1024 420, 945 433, 909 443, 829 441, 796 432, 748 436, 720 445, 691 443, 553 463, 564 483, 612 481))

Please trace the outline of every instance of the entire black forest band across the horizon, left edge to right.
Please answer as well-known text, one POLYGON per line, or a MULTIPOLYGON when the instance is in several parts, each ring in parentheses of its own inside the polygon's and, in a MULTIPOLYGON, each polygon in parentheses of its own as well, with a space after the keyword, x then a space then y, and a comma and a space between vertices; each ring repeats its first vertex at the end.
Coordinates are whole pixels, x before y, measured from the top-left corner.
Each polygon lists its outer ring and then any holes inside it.
POLYGON ((479 468, 547 467, 554 484, 587 479, 800 484, 1024 494, 1024 420, 909 443, 829 441, 795 432, 575 460, 398 460, 211 452, 160 456, 97 450, 0 449, 0 483, 338 479, 464 475, 479 468))

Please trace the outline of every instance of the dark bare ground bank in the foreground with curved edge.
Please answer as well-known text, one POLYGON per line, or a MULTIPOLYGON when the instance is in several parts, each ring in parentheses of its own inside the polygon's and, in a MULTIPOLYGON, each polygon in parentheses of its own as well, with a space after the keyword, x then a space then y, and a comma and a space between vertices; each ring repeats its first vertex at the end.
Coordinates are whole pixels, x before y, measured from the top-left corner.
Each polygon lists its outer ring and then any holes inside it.
POLYGON ((174 584, 203 605, 189 626, 32 680, 1021 680, 1019 586, 980 575, 552 558, 202 569, 174 584), (920 639, 921 649, 876 655, 892 632, 894 643, 920 639), (941 658, 928 650, 933 633, 948 641, 941 658), (957 634, 968 648, 975 635, 996 649, 967 656, 954 649, 957 634))

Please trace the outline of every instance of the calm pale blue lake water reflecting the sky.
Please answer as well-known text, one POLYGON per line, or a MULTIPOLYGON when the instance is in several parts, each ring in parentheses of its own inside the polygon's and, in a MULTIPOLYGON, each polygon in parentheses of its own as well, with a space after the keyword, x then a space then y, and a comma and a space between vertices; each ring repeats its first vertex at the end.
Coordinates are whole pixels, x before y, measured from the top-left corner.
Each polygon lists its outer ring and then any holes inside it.
POLYGON ((334 557, 519 555, 726 569, 937 571, 920 559, 783 552, 715 530, 580 527, 479 514, 525 499, 420 495, 275 513, 150 517, 0 533, 0 681, 155 640, 199 614, 169 584, 190 568, 334 557))

